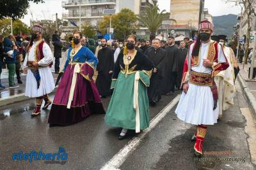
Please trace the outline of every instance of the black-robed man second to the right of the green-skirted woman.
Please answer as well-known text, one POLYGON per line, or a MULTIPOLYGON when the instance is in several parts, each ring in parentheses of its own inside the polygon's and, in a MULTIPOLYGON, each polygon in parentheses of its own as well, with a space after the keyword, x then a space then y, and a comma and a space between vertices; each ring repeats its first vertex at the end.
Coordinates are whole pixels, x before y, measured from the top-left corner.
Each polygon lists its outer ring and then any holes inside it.
POLYGON ((174 37, 168 37, 168 46, 164 48, 167 51, 166 67, 164 68, 164 79, 161 83, 161 93, 170 95, 174 92, 175 80, 177 72, 177 55, 178 48, 175 46, 174 37))

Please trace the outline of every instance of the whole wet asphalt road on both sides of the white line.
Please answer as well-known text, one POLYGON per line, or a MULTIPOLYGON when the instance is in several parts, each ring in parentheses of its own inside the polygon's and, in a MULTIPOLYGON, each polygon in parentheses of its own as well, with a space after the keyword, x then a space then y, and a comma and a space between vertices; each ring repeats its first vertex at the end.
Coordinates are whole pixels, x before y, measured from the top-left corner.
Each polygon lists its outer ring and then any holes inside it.
MULTIPOLYGON (((178 94, 178 92, 176 93, 178 94)), ((154 118, 176 96, 163 96, 157 107, 150 108, 154 118)), ((52 98, 53 96, 51 96, 52 98)), ((104 107, 109 99, 103 99, 104 107)), ((219 124, 209 127, 204 143, 205 152, 228 151, 232 155, 205 155, 211 160, 195 160, 190 141, 195 126, 181 122, 173 108, 166 117, 129 155, 120 169, 256 169, 250 160, 246 120, 239 108, 248 107, 238 90, 235 106, 225 111, 219 124), (244 162, 213 159, 243 158, 244 162)), ((31 118, 34 100, 0 108, 0 169, 100 169, 135 135, 118 140, 119 128, 104 123, 104 115, 91 115, 79 124, 67 127, 49 127, 49 110, 31 118), (43 161, 12 160, 13 153, 56 153, 65 148, 68 161, 61 164, 45 164, 43 161)))

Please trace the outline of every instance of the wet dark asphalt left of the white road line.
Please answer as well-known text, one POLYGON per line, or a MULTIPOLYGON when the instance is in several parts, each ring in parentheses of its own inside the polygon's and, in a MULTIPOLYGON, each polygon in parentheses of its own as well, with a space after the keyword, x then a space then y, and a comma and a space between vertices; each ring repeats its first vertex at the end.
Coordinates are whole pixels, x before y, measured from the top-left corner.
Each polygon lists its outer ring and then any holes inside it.
MULTIPOLYGON (((157 107, 150 108, 150 119, 175 96, 163 96, 157 107)), ((102 102, 107 108, 109 98, 102 102)), ((104 115, 91 115, 66 127, 49 127, 49 110, 31 117, 34 108, 35 99, 0 108, 0 169, 100 169, 135 135, 129 131, 127 139, 118 140, 121 129, 106 125, 104 115), (13 153, 56 153, 60 146, 68 153, 68 161, 63 165, 12 160, 13 153)))

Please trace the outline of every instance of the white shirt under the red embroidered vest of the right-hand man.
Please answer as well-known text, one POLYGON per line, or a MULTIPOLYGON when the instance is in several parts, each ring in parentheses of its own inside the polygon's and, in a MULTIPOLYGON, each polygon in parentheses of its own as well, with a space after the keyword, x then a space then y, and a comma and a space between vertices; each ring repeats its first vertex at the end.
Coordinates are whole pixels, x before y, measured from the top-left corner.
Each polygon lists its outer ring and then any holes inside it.
MULTIPOLYGON (((196 71, 198 73, 211 73, 212 72, 212 68, 211 67, 205 67, 203 66, 203 59, 207 59, 208 57, 208 50, 209 50, 209 45, 211 44, 212 41, 209 41, 209 43, 201 43, 201 47, 200 47, 200 54, 199 54, 199 64, 196 67, 191 67, 191 69, 193 71, 196 71)), ((193 43, 190 48, 189 48, 189 56, 191 59, 191 54, 193 51, 193 46, 195 45, 195 43, 193 43)), ((226 57, 223 53, 222 47, 221 45, 218 44, 218 63, 222 63, 222 62, 227 62, 226 57)))

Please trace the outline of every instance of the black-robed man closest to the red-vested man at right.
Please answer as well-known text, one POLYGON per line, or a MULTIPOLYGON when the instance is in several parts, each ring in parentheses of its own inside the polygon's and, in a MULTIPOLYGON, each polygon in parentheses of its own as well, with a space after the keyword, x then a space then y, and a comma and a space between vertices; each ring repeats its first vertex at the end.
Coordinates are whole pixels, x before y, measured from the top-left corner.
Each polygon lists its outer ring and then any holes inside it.
POLYGON ((180 48, 179 48, 179 55, 177 57, 178 59, 178 74, 177 74, 177 80, 176 80, 176 87, 180 87, 181 80, 182 80, 182 73, 183 73, 183 67, 184 62, 188 53, 188 48, 186 48, 185 41, 180 41, 180 48))

